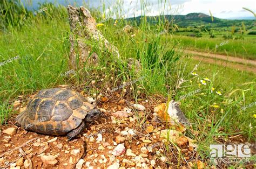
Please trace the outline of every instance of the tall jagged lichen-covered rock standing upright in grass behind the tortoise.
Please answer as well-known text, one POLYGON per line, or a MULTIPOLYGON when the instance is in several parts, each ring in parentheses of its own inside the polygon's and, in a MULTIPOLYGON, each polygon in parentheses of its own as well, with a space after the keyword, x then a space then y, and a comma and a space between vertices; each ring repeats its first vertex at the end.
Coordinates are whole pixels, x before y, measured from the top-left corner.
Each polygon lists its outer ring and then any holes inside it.
POLYGON ((71 69, 80 69, 86 62, 89 65, 97 65, 98 55, 91 52, 92 47, 84 43, 85 40, 93 40, 97 42, 97 46, 102 52, 110 52, 113 56, 119 58, 119 52, 116 46, 112 45, 104 38, 103 34, 97 30, 97 23, 95 18, 91 16, 89 10, 80 6, 74 8, 68 5, 69 23, 70 23, 70 54, 69 64, 71 69), (85 31, 86 30, 86 31, 85 31), (83 40, 77 41, 77 37, 83 40), (77 63, 77 55, 79 54, 79 62, 77 63))

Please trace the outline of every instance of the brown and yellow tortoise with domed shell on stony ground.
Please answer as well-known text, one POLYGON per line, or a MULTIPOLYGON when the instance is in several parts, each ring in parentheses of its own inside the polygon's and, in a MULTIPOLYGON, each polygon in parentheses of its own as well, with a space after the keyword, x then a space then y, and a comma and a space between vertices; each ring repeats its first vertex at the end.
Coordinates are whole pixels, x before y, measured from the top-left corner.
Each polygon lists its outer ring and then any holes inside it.
POLYGON ((67 135, 72 140, 101 112, 95 105, 70 89, 51 88, 40 90, 16 117, 22 129, 46 135, 67 135))

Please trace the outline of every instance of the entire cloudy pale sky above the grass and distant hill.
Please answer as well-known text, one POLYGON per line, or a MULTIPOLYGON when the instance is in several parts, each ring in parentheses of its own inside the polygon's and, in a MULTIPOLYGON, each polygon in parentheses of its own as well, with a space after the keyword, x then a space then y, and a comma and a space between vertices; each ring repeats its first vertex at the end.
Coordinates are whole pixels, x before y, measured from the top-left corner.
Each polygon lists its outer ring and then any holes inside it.
MULTIPOLYGON (((38 2, 43 3, 57 2, 62 5, 76 4, 78 6, 83 5, 83 2, 89 4, 90 7, 98 8, 102 11, 103 0, 21 0, 25 4, 32 3, 32 6, 28 6, 29 9, 37 9, 38 2)), ((137 17, 142 15, 142 9, 140 8, 140 0, 104 0, 106 8, 106 17, 111 14, 110 11, 119 6, 122 8, 122 12, 118 12, 119 16, 124 18, 137 17), (120 2, 120 3, 117 3, 120 2)), ((186 15, 192 12, 201 12, 206 15, 210 15, 209 10, 214 17, 217 18, 238 18, 238 17, 253 17, 252 13, 242 9, 242 7, 251 9, 256 12, 256 0, 166 0, 164 8, 164 0, 144 0, 145 15, 157 16, 159 14, 176 14, 186 15)), ((112 16, 116 18, 116 15, 112 16)))

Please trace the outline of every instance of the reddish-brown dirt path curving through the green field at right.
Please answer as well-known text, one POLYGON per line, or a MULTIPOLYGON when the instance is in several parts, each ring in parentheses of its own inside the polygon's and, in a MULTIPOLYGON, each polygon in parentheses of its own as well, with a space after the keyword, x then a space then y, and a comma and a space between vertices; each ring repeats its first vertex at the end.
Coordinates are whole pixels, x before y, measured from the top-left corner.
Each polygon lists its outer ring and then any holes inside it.
POLYGON ((209 64, 217 64, 220 66, 230 67, 239 71, 248 71, 256 74, 256 61, 247 60, 235 57, 228 57, 226 55, 204 53, 197 51, 184 50, 185 53, 193 54, 196 60, 202 60, 209 64))

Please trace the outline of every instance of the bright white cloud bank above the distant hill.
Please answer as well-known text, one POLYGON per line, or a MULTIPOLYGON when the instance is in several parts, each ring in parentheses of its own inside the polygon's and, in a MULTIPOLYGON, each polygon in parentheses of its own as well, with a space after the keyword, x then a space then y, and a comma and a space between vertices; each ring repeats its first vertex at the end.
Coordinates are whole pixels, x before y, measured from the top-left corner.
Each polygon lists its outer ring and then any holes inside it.
MULTIPOLYGON (((140 6, 140 0, 124 0, 122 4, 117 4, 117 1, 108 1, 106 6, 110 10, 119 8, 122 6, 122 12, 119 12, 119 16, 126 17, 137 17, 144 13, 144 10, 140 6)), ((120 0, 119 0, 120 2, 120 0)), ((243 0, 243 1, 232 1, 232 0, 182 0, 182 1, 166 1, 164 11, 164 1, 160 0, 145 0, 145 15, 157 16, 160 13, 167 14, 180 14, 186 15, 192 12, 202 12, 210 15, 211 10, 214 17, 219 18, 231 18, 231 17, 247 17, 253 16, 252 13, 242 10, 242 7, 249 8, 256 12, 256 1, 255 0, 243 0)))

